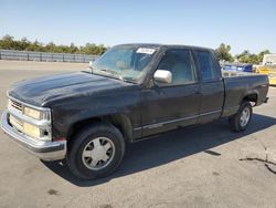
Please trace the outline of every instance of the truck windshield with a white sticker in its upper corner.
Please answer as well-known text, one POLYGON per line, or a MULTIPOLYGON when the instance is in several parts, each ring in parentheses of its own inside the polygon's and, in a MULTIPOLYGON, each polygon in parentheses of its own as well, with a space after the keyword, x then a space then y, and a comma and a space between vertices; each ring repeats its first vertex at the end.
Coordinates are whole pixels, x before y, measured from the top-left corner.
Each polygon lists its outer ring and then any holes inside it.
POLYGON ((128 82, 138 82, 152 59, 156 48, 115 46, 104 53, 92 65, 95 74, 128 82))

